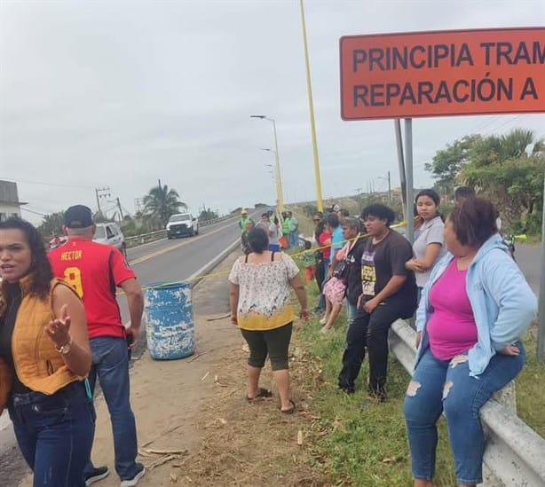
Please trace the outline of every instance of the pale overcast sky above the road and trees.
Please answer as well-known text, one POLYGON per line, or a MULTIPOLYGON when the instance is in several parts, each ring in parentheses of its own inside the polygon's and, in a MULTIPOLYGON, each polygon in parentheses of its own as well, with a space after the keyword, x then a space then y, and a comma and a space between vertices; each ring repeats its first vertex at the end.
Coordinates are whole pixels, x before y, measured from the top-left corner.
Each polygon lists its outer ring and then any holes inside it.
MULTIPOLYGON (((324 197, 399 182, 393 122, 344 122, 339 38, 545 25, 543 0, 307 0, 306 27, 324 197)), ((284 199, 315 199, 296 0, 0 0, 0 179, 28 210, 96 209, 95 188, 135 211, 157 184, 195 211, 275 200, 265 164, 276 120, 284 199)), ((469 133, 515 127, 545 137, 545 115, 415 119, 423 165, 469 133)), ((113 205, 102 200, 103 208, 113 205)), ((28 211, 23 216, 39 221, 28 211)))

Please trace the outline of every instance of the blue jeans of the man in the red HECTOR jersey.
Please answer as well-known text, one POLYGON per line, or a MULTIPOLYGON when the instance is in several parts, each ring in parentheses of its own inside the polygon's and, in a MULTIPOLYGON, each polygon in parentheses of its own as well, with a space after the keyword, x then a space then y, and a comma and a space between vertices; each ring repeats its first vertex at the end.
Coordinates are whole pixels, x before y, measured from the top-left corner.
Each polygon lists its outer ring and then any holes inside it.
MULTIPOLYGON (((91 390, 97 377, 106 399, 114 434, 115 471, 122 480, 138 473, 136 421, 130 409, 129 355, 124 338, 99 336, 91 338, 92 367, 89 373, 91 390)), ((86 471, 92 468, 91 456, 86 471)))

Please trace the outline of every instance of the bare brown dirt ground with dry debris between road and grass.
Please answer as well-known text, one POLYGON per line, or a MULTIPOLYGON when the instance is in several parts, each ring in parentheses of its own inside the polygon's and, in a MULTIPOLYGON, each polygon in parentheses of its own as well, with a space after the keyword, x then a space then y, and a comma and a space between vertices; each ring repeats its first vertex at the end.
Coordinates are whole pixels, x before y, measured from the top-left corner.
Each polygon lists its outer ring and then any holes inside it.
MULTIPOLYGON (((228 270, 231 255, 217 271, 228 270)), ((281 414, 273 398, 245 400, 246 352, 227 313, 226 276, 202 281, 194 289, 197 350, 182 360, 155 361, 145 351, 130 370, 131 404, 138 425, 138 460, 147 469, 138 485, 253 486, 328 485, 319 462, 309 466, 307 436, 316 419, 312 397, 304 391, 315 365, 303 366, 301 350, 291 350, 293 397, 297 412, 281 414)), ((265 368, 261 384, 273 389, 265 368)), ((103 398, 96 400, 97 427, 92 459, 111 474, 96 483, 119 485, 115 474, 112 433, 103 398)), ((20 483, 31 485, 30 475, 20 483)))

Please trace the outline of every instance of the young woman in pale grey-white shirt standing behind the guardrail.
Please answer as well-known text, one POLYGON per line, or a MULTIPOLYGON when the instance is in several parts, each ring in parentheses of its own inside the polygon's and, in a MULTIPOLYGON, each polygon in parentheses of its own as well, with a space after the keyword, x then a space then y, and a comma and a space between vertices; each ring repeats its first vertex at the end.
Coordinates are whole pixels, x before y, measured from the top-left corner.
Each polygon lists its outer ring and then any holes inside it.
POLYGON ((445 224, 438 213, 441 200, 437 192, 425 189, 416 194, 415 203, 418 219, 415 222, 414 257, 405 267, 415 272, 416 286, 420 291, 430 279, 433 265, 446 254, 443 244, 445 224))

